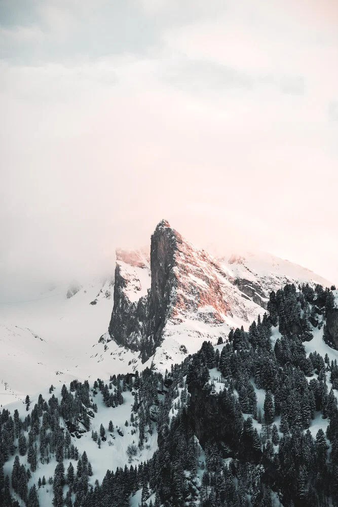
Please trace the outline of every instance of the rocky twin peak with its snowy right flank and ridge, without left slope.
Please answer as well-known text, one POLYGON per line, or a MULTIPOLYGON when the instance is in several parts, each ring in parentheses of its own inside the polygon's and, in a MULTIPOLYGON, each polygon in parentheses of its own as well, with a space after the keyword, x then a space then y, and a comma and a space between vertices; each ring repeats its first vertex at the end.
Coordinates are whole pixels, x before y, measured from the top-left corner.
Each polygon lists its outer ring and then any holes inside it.
POLYGON ((325 283, 270 255, 215 259, 163 220, 150 255, 146 249, 117 251, 114 308, 100 340, 137 352, 143 363, 152 358, 159 368, 170 368, 204 340, 216 342, 231 328, 246 328, 264 313, 271 291, 312 278, 325 283))

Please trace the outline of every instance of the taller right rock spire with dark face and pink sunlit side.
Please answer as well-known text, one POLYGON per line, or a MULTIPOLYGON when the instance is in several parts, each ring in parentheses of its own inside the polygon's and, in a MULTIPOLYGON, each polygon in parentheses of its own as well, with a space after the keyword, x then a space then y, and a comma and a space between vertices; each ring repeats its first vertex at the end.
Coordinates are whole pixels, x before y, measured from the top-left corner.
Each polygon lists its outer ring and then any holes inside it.
POLYGON ((194 316, 221 324, 226 315, 232 315, 223 296, 221 280, 226 275, 220 265, 186 241, 167 221, 160 222, 152 236, 151 276, 142 342, 144 358, 162 342, 169 322, 184 323, 194 316))

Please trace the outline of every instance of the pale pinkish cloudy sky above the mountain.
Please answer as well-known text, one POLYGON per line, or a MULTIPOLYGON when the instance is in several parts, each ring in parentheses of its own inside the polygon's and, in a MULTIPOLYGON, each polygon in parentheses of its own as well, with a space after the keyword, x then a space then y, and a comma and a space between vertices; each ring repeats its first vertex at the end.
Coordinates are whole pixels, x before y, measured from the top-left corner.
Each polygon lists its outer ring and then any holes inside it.
POLYGON ((338 282, 334 0, 0 0, 0 296, 162 219, 338 282))

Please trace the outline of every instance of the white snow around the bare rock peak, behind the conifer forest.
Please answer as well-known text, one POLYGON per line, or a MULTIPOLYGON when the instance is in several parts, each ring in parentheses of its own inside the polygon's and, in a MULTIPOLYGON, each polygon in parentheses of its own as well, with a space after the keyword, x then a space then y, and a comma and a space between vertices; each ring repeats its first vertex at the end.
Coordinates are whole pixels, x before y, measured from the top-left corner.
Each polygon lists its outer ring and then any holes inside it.
MULTIPOLYGON (((229 261, 223 259, 219 269, 217 261, 214 265, 213 258, 206 252, 187 244, 192 248, 189 262, 195 259, 196 266, 189 270, 186 279, 203 291, 208 279, 214 277, 230 311, 222 312, 219 304, 217 308, 206 304, 195 310, 189 309, 188 305, 186 311, 178 313, 175 319, 168 319, 162 344, 142 365, 138 353, 118 346, 114 341, 98 343, 102 335, 109 338, 106 332, 114 291, 111 280, 96 280, 84 285, 69 299, 66 297, 69 287, 55 287, 33 301, 0 304, 0 405, 52 383, 62 385, 74 378, 82 381, 109 378, 112 374, 140 371, 146 366, 164 372, 171 364, 180 363, 186 354, 199 350, 204 340, 215 344, 219 336, 225 339, 232 328, 243 325, 247 330, 258 313, 265 310, 243 297, 234 284, 238 276, 257 282, 267 292, 295 279, 329 285, 315 273, 269 254, 250 253, 229 261), (217 312, 222 322, 215 321, 217 312)), ((140 250, 134 258, 132 256, 133 252, 120 252, 117 263, 128 280, 124 288, 126 296, 131 302, 137 302, 147 294, 151 276, 145 253, 140 250), (132 258, 131 264, 128 256, 132 258)), ((184 263, 185 258, 186 254, 182 253, 180 262, 184 263)), ((187 298, 194 298, 194 295, 188 294, 187 298)), ((338 304, 338 291, 335 291, 335 299, 338 304)), ((276 330, 273 341, 277 337, 276 330)), ((321 351, 315 341, 305 346, 321 351)), ((332 353, 334 355, 330 349, 332 353)))

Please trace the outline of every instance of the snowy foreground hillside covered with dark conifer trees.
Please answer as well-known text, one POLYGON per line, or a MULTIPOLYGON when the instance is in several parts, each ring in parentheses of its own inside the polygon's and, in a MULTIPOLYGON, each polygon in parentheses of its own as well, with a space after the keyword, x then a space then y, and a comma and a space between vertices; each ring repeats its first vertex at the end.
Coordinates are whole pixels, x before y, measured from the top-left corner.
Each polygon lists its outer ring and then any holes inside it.
POLYGON ((276 500, 286 507, 290 496, 294 505, 311 505, 296 500, 320 495, 321 477, 329 477, 325 495, 335 505, 338 351, 323 336, 337 303, 338 291, 304 286, 296 292, 286 285, 270 301, 269 317, 248 333, 237 329, 227 344, 205 341, 168 375, 145 369, 73 380, 7 404, 0 413, 0 505, 212 507, 201 503, 206 488, 210 498, 227 492, 228 505, 241 491, 247 505, 248 495, 257 497, 262 488, 270 501, 258 505, 276 500), (311 339, 303 345, 304 333, 311 339), (302 468, 291 468, 294 482, 286 476, 289 460, 297 459, 293 442, 307 450, 302 468), (250 464, 244 478, 236 472, 241 463, 250 464), (217 481, 208 481, 206 470, 217 481), (259 480, 248 481, 252 474, 259 480), (304 474, 309 486, 299 490, 304 474), (277 484, 267 482, 270 477, 277 484))

